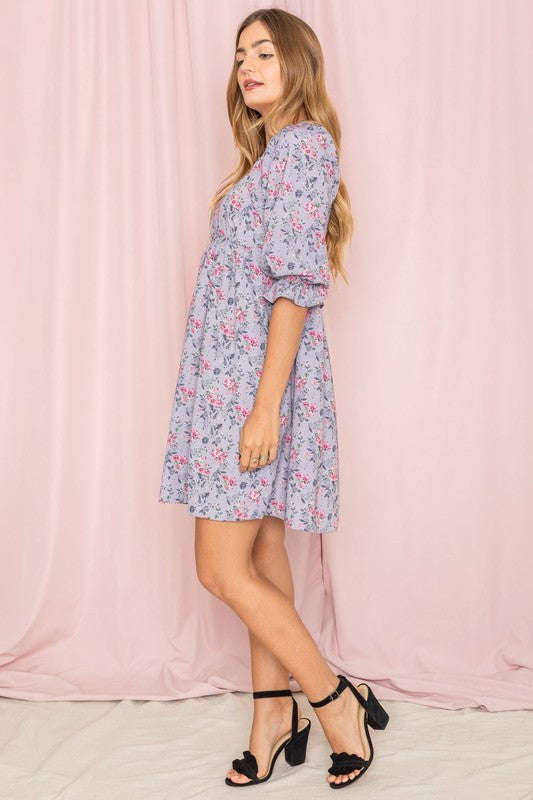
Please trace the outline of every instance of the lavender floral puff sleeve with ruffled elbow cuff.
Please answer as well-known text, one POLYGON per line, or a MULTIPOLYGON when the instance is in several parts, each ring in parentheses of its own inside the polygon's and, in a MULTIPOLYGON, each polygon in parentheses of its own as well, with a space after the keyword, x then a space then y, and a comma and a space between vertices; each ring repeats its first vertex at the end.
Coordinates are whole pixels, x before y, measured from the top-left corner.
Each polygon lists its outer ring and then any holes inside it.
POLYGON ((331 275, 326 230, 339 188, 335 143, 326 128, 309 123, 283 128, 272 145, 263 176, 263 297, 322 307, 331 275))

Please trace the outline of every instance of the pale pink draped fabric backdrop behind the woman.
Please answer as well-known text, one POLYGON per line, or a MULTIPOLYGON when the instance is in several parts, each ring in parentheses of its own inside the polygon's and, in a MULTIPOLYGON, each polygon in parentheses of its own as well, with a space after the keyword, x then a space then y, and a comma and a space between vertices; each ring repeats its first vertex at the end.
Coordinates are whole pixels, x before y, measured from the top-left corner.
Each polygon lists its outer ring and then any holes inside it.
MULTIPOLYGON (((357 225, 323 309, 340 527, 287 531, 297 607, 382 699, 533 708, 533 4, 278 5, 322 43, 357 225)), ((2 696, 251 689, 158 492, 258 7, 0 3, 2 696)))

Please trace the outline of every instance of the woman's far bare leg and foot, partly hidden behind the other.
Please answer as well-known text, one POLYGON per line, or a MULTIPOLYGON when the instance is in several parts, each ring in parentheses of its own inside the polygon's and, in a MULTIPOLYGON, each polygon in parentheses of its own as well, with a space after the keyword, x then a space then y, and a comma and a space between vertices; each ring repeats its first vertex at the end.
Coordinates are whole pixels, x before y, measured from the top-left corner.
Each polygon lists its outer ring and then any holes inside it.
MULTIPOLYGON (((294 603, 294 585, 287 551, 285 523, 279 517, 263 517, 255 538, 252 558, 256 569, 272 581, 294 603)), ((254 691, 288 689, 289 673, 271 650, 248 630, 254 691)), ((262 697, 254 700, 254 716, 248 749, 257 758, 259 776, 266 774, 274 742, 291 728, 292 700, 290 697, 262 697)), ((232 781, 248 783, 250 779, 234 769, 232 781)))

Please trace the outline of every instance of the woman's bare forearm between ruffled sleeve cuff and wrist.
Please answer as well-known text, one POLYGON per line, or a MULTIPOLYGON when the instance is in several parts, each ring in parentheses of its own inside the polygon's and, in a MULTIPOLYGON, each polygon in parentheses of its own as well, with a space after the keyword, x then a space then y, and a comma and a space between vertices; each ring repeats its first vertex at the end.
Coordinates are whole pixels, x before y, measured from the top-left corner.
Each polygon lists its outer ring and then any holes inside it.
POLYGON ((263 372, 255 406, 279 413, 282 397, 298 352, 307 307, 288 297, 278 297, 272 306, 263 372))

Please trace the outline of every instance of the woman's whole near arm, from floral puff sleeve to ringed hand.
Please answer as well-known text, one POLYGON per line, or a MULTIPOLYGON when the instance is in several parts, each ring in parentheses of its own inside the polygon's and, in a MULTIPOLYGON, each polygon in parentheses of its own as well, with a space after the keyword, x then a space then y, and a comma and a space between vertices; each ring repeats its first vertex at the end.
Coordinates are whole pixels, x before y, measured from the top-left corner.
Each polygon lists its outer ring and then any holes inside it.
POLYGON ((330 284, 326 231, 339 182, 331 134, 319 125, 282 129, 263 162, 262 181, 263 297, 272 309, 254 406, 241 428, 241 472, 277 457, 281 401, 306 315, 324 305, 330 284), (266 461, 251 461, 267 455, 266 461))

